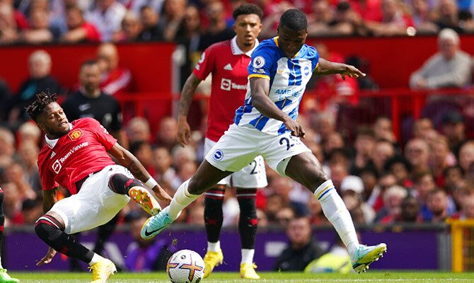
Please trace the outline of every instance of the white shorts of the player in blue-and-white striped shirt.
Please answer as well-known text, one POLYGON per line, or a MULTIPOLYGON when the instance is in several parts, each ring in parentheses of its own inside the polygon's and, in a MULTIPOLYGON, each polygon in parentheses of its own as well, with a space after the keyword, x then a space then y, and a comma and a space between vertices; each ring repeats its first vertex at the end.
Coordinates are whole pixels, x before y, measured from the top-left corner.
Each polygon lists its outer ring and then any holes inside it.
POLYGON ((284 173, 291 156, 311 152, 299 137, 289 132, 274 136, 258 129, 232 124, 206 155, 206 160, 221 171, 240 171, 261 155, 270 168, 284 173))

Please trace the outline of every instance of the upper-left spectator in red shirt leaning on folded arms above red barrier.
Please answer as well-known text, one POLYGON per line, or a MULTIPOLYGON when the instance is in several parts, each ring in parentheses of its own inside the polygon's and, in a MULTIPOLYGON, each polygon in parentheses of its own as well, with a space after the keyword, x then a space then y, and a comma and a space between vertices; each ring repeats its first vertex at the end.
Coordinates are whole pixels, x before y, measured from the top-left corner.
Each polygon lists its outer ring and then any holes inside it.
POLYGON ((84 20, 83 12, 78 6, 67 8, 66 17, 67 32, 62 35, 62 42, 100 42, 100 33, 96 26, 84 20))

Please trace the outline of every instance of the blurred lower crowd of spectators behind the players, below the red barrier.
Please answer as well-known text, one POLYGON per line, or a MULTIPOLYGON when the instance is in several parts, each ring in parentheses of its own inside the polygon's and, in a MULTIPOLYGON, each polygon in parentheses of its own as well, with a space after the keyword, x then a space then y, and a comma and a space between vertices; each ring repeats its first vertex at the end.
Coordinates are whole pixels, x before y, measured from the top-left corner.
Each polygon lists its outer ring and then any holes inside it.
MULTIPOLYGON (((333 179, 357 224, 441 223, 448 217, 474 218, 474 141, 466 138, 460 113, 446 112, 439 130, 428 118, 415 121, 406 144, 396 139, 391 120, 386 117, 378 117, 373 125, 359 125, 352 142, 337 131, 330 112, 307 112, 299 120, 306 125, 304 142, 333 179)), ((192 134, 190 146, 178 146, 173 117, 163 118, 156 133, 141 117, 127 121, 120 131, 132 154, 170 195, 202 161, 202 133, 197 130, 192 134)), ((5 192, 8 225, 33 224, 42 214, 36 158, 43 140, 30 121, 23 122, 15 133, 0 128, 0 184, 5 192)), ((269 185, 258 190, 260 227, 285 226, 299 216, 307 216, 311 224, 327 223, 320 204, 308 190, 270 168, 267 178, 269 185)), ((139 207, 129 204, 122 218, 137 211, 139 207)), ((200 198, 176 223, 203 225, 203 211, 200 198)), ((236 225, 237 218, 235 192, 229 189, 224 201, 224 226, 236 225)))

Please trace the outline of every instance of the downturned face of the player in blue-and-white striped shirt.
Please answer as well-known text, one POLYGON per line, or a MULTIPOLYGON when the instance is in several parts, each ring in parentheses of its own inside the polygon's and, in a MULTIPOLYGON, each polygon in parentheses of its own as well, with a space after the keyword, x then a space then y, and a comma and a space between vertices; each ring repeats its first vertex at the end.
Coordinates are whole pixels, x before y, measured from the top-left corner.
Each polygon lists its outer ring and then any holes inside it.
POLYGON ((308 30, 291 30, 278 25, 278 46, 288 58, 293 58, 306 41, 308 30))

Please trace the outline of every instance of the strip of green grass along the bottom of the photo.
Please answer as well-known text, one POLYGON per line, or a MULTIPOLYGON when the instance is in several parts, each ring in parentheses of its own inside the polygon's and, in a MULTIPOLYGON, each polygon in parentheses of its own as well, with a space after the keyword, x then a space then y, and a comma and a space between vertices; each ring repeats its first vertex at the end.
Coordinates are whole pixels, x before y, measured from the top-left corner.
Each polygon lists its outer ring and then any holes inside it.
MULTIPOLYGON (((83 283, 91 282, 90 273, 18 273, 11 275, 21 279, 22 283, 83 283)), ((260 280, 243 280, 238 273, 216 272, 206 282, 262 282, 262 283, 299 283, 299 282, 400 282, 400 283, 450 283, 450 282, 474 282, 474 273, 452 273, 452 272, 367 272, 364 274, 305 274, 305 273, 278 273, 260 272, 260 280)), ((109 283, 156 283, 169 282, 166 273, 118 273, 108 280, 109 283)))

